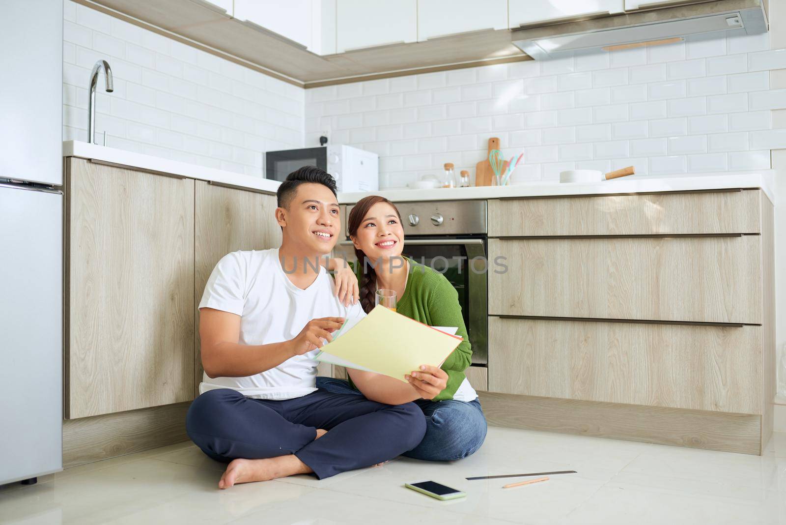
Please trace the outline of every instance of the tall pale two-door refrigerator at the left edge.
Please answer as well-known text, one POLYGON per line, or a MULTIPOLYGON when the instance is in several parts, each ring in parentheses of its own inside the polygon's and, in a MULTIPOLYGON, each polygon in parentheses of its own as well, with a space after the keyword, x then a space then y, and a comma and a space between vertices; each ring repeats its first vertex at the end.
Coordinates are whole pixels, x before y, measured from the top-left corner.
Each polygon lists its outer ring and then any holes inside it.
POLYGON ((0 0, 0 484, 63 465, 62 94, 63 0, 0 0))

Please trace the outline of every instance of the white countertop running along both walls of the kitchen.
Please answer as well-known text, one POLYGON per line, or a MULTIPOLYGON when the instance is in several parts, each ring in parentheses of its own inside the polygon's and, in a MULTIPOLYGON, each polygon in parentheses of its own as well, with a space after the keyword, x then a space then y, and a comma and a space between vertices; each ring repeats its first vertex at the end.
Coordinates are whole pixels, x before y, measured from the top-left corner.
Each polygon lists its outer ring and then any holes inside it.
MULTIPOLYGON (((265 193, 276 193, 280 182, 254 177, 233 171, 217 170, 196 166, 177 160, 162 159, 123 149, 88 144, 81 141, 64 141, 63 156, 78 156, 84 159, 101 160, 123 166, 137 167, 145 171, 177 174, 183 177, 255 189, 265 193)), ((394 202, 417 200, 466 200, 498 199, 516 196, 578 196, 604 195, 609 193, 656 193, 674 191, 696 191, 702 189, 761 188, 769 200, 774 202, 774 171, 740 171, 705 173, 696 175, 667 175, 649 177, 633 175, 611 181, 584 183, 555 181, 529 182, 509 186, 479 186, 472 188, 438 189, 382 189, 375 192, 394 202)), ((353 204, 368 193, 339 193, 340 204, 353 204)))

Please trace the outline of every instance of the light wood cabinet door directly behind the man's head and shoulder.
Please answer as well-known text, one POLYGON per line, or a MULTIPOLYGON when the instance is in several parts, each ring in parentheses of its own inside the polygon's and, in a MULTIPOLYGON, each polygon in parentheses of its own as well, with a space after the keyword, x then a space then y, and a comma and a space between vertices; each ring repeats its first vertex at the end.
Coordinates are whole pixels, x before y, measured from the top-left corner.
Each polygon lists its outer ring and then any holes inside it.
POLYGON ((196 181, 193 315, 193 395, 199 395, 202 358, 199 339, 199 307, 204 286, 215 264, 237 250, 266 250, 281 244, 281 228, 274 211, 276 196, 215 183, 196 181))

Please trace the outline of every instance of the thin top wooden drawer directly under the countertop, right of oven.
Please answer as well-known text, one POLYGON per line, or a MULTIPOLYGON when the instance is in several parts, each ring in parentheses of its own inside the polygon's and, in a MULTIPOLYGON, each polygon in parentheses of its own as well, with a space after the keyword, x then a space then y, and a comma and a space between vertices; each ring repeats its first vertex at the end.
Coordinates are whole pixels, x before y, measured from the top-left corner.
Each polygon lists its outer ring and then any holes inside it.
POLYGON ((761 190, 489 200, 490 237, 761 233, 761 190))

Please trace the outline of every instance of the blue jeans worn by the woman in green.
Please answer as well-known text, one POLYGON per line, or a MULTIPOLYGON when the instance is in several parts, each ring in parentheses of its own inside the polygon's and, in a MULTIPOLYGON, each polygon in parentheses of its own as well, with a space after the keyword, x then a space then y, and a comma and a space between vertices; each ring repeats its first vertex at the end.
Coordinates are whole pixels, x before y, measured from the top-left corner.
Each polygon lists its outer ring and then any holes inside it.
MULTIPOLYGON (((317 377, 317 387, 334 394, 362 395, 349 382, 333 377, 317 377)), ((480 402, 430 401, 417 399, 417 406, 426 417, 426 435, 423 441, 403 456, 428 461, 453 461, 467 457, 483 445, 486 439, 486 417, 480 402)))

